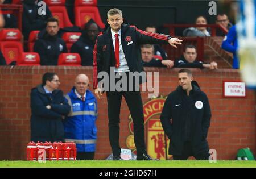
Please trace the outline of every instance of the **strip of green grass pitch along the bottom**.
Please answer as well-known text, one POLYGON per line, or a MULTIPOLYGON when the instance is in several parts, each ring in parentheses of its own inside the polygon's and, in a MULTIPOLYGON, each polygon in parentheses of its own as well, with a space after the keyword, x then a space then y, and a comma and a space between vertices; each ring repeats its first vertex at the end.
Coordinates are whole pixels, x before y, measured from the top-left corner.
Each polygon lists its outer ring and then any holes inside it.
POLYGON ((0 161, 0 167, 61 167, 61 168, 171 168, 171 167, 256 167, 256 161, 217 160, 209 161, 112 161, 112 160, 84 160, 84 161, 0 161))

